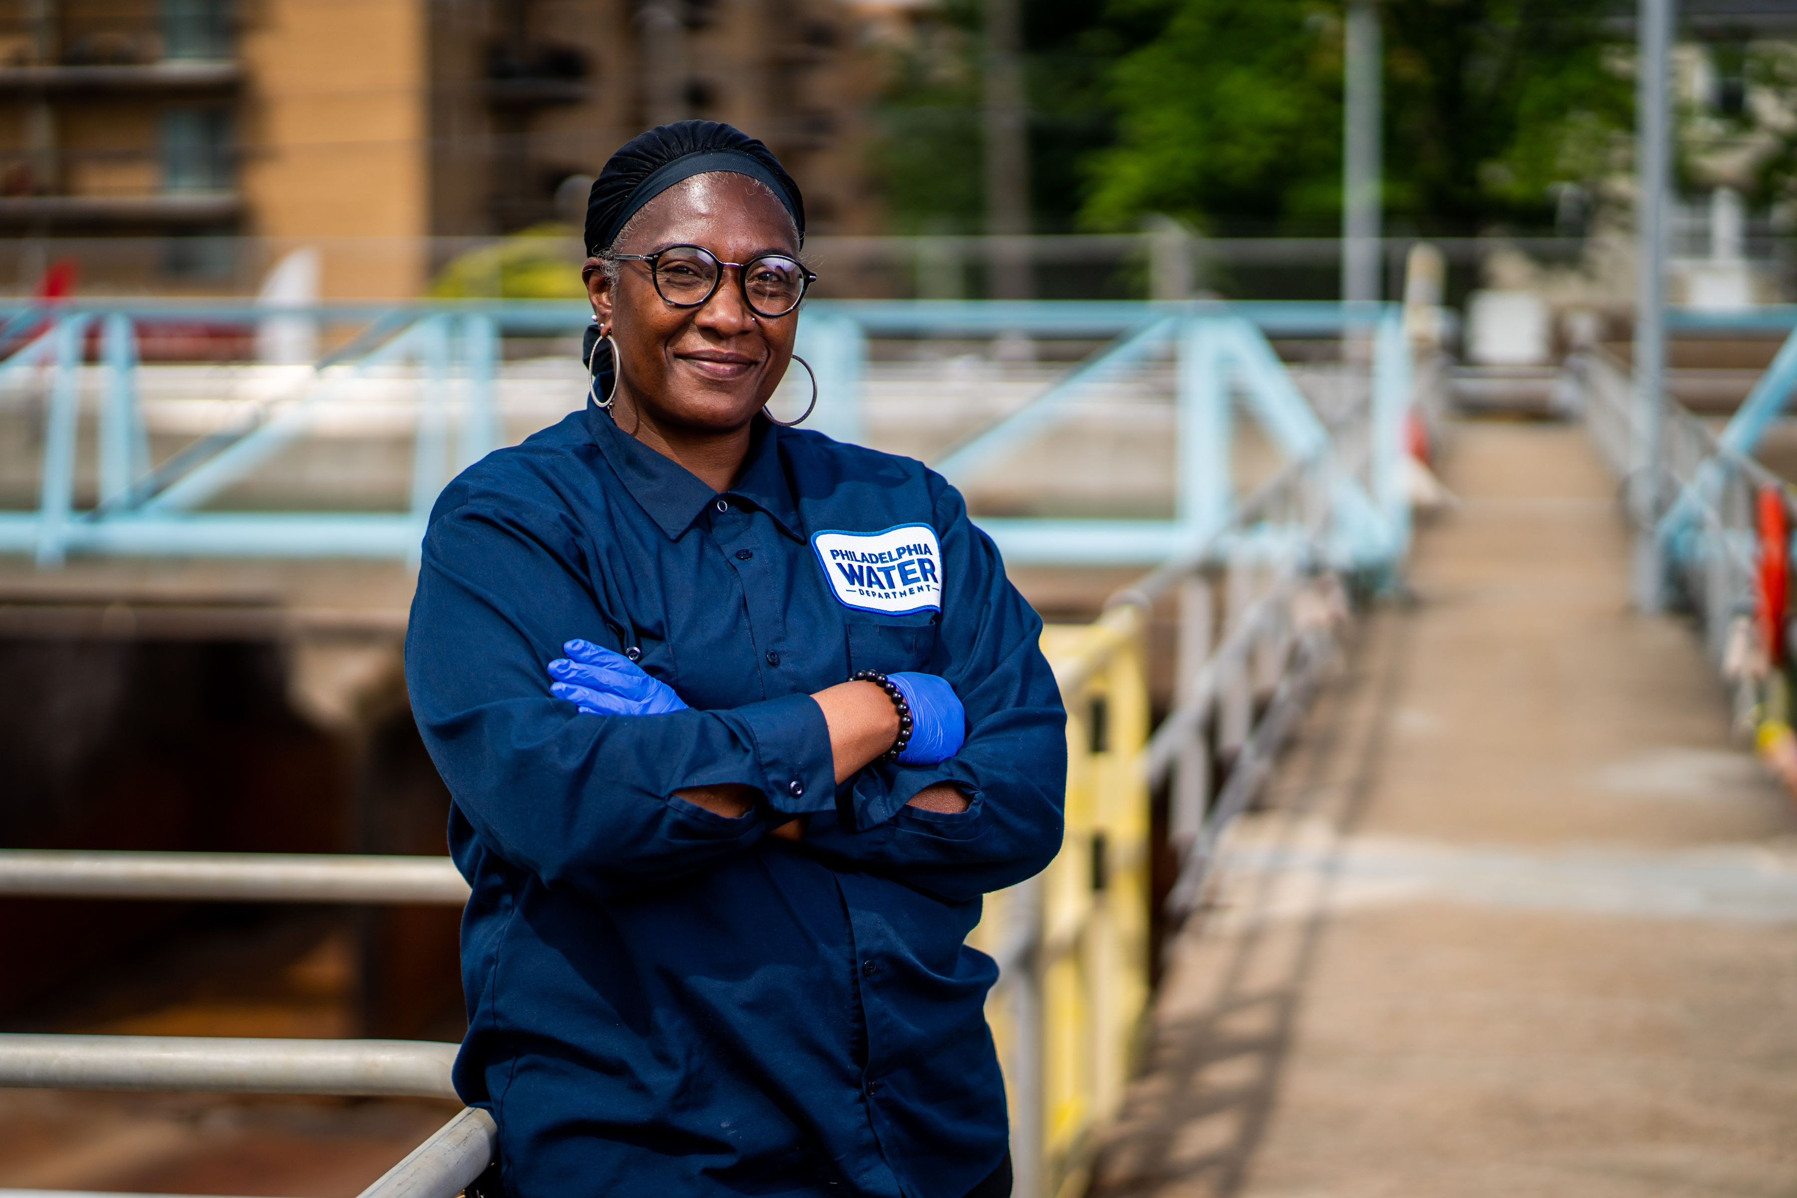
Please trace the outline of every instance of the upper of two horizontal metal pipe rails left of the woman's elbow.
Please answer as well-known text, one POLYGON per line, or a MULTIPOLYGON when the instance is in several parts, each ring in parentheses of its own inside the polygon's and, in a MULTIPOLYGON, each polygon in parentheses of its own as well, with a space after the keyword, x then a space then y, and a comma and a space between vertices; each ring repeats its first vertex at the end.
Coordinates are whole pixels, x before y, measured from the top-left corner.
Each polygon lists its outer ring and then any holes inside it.
POLYGON ((0 850, 0 894, 460 907, 467 882, 447 857, 0 850))

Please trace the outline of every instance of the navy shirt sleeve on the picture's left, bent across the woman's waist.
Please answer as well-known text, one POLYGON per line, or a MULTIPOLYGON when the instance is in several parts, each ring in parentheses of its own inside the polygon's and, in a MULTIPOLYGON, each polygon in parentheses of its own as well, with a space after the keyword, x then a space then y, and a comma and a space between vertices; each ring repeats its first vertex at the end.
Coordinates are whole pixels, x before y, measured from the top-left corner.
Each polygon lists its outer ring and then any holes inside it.
POLYGON ((580 636, 618 645, 582 537, 552 505, 446 492, 424 539, 406 684, 431 760, 474 832, 548 884, 615 894, 704 869, 767 830, 676 790, 739 783, 830 794, 823 711, 787 695, 722 711, 580 715, 544 663, 580 636))

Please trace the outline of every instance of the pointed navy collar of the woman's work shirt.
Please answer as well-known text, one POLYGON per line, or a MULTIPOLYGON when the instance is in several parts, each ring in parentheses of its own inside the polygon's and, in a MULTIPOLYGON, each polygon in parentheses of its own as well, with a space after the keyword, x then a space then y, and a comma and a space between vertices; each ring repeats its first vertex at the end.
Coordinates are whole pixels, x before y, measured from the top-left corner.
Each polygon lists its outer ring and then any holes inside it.
POLYGON ((591 399, 586 401, 586 424, 625 490, 670 541, 686 532, 719 494, 748 501, 767 512, 792 539, 805 539, 792 489, 780 465, 780 429, 767 420, 755 422, 742 476, 724 492, 712 490, 679 462, 624 433, 611 413, 591 399))

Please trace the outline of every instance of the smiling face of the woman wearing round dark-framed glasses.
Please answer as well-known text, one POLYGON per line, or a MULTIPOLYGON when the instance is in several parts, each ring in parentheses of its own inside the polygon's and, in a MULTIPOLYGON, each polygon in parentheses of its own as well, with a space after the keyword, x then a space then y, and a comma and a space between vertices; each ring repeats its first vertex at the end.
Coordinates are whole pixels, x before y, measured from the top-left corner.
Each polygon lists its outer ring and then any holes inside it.
MULTIPOLYGON (((676 183, 631 221, 618 253, 703 246, 721 262, 760 253, 798 255, 785 207, 760 183, 730 172, 676 183)), ((792 357, 798 313, 769 320, 742 300, 737 271, 701 307, 674 307, 658 293, 647 262, 618 262, 618 278, 588 278, 593 314, 618 347, 613 411, 665 436, 708 436, 746 429, 775 393, 792 357)))

